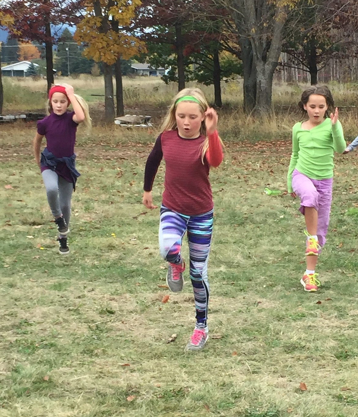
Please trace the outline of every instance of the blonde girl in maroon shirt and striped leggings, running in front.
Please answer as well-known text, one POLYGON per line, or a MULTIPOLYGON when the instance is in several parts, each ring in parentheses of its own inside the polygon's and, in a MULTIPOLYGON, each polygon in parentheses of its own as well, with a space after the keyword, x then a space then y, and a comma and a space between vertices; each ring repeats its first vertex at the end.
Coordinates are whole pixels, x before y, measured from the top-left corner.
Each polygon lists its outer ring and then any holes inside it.
POLYGON ((187 234, 190 279, 194 289, 196 324, 186 350, 204 347, 208 339, 209 283, 207 263, 213 227, 211 166, 219 166, 222 142, 216 131, 218 116, 198 88, 181 90, 172 102, 145 166, 143 204, 153 209, 152 186, 162 159, 164 192, 160 208, 159 247, 169 262, 167 284, 174 292, 183 288, 185 262, 181 244, 187 234))

